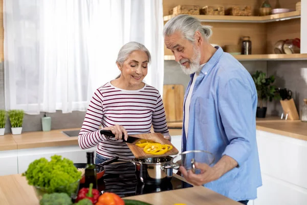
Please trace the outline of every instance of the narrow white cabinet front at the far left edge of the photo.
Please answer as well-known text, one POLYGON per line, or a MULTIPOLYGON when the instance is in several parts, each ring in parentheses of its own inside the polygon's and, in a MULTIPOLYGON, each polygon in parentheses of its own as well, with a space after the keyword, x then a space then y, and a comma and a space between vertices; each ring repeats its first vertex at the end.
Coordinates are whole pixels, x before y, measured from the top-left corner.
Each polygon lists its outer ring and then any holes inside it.
POLYGON ((0 176, 17 174, 17 150, 0 151, 0 176))

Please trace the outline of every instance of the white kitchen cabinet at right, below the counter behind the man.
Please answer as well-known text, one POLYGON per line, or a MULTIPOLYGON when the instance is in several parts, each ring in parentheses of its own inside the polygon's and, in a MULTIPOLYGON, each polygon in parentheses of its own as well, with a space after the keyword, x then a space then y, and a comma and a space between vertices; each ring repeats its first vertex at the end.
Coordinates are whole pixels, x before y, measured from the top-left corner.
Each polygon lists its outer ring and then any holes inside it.
POLYGON ((262 187, 253 205, 307 201, 307 141, 257 130, 262 187))

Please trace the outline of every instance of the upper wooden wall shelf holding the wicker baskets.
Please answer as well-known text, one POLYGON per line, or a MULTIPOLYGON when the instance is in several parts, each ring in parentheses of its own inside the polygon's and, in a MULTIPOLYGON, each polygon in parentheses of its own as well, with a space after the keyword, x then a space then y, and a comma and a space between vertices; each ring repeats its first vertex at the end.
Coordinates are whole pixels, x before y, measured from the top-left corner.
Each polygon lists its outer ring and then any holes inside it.
MULTIPOLYGON (((176 15, 164 16, 164 22, 176 15)), ((269 23, 280 20, 300 18, 300 11, 279 13, 267 16, 229 16, 229 15, 191 15, 201 20, 201 22, 225 22, 225 23, 269 23)))

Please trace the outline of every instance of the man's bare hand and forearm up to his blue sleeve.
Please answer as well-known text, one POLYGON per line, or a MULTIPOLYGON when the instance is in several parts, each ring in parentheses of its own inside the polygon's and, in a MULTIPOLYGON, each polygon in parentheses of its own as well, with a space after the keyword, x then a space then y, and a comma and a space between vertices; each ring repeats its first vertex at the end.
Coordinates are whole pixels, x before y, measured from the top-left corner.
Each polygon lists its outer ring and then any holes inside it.
POLYGON ((195 186, 201 186, 210 181, 214 181, 235 168, 238 163, 231 157, 224 155, 213 167, 206 163, 195 163, 195 168, 201 170, 201 174, 194 174, 191 170, 187 171, 184 167, 180 167, 179 171, 184 178, 195 186))

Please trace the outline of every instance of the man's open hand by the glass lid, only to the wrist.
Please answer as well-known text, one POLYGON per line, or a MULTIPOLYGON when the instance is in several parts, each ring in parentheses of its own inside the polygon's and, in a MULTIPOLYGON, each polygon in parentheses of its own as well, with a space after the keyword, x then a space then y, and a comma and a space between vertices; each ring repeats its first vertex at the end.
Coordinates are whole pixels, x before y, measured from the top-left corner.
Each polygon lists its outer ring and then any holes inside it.
POLYGON ((191 170, 187 171, 184 167, 180 167, 179 171, 184 178, 194 186, 202 186, 205 183, 214 181, 221 176, 215 171, 214 167, 208 166, 206 163, 195 163, 195 168, 201 170, 201 174, 194 174, 191 170))

